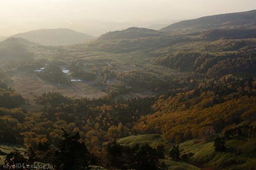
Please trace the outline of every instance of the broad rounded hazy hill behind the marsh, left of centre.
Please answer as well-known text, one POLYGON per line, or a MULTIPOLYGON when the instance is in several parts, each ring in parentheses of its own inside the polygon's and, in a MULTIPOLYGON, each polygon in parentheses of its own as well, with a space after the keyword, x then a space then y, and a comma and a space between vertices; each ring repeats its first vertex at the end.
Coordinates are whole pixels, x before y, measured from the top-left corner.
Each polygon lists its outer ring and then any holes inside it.
POLYGON ((24 33, 18 33, 11 37, 20 37, 29 41, 37 42, 45 46, 70 45, 89 42, 95 37, 76 32, 70 29, 39 29, 24 33))

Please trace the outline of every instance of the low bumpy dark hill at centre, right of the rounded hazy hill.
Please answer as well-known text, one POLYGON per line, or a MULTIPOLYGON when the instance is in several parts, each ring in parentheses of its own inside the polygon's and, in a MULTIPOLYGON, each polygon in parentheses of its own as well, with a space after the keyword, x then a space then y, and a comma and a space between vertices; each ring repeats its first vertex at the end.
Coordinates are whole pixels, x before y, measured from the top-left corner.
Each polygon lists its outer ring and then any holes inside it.
POLYGON ((118 40, 118 39, 136 39, 136 38, 146 38, 146 37, 160 37, 169 35, 170 33, 164 31, 157 31, 147 28, 137 28, 131 27, 123 31, 113 31, 108 32, 100 36, 97 41, 107 41, 107 40, 118 40))

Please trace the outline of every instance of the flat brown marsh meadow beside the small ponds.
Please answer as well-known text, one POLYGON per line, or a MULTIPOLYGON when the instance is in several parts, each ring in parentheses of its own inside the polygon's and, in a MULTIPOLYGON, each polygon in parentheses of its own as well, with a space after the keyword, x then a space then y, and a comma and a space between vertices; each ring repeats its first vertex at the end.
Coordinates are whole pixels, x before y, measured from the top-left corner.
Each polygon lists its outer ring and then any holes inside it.
POLYGON ((8 83, 8 86, 16 89, 24 98, 33 98, 35 94, 40 95, 48 91, 60 92, 64 96, 74 98, 87 97, 91 99, 106 95, 94 88, 91 81, 74 81, 67 84, 51 83, 37 77, 35 72, 26 70, 16 70, 6 74, 13 80, 8 83))

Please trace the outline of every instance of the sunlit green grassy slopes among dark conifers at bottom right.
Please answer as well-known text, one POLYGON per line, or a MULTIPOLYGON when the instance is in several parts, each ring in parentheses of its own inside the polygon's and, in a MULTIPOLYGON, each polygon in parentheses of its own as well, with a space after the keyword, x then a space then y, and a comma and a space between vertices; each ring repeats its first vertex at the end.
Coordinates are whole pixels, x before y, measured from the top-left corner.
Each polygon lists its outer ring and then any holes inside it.
MULTIPOLYGON (((235 169, 245 169, 245 167, 248 169, 256 168, 255 159, 245 155, 245 153, 247 153, 245 152, 245 150, 249 151, 249 148, 244 147, 244 155, 236 155, 236 152, 234 152, 234 147, 238 143, 238 141, 236 140, 229 140, 226 144, 227 150, 225 150, 224 152, 216 152, 213 147, 213 142, 193 139, 180 143, 180 155, 182 156, 182 154, 185 153, 190 155, 190 164, 182 161, 175 162, 168 158, 168 154, 170 153, 170 150, 175 143, 164 142, 162 136, 158 134, 129 136, 119 139, 117 140, 117 142, 130 147, 135 146, 136 143, 138 143, 139 145, 144 145, 148 143, 153 148, 156 148, 159 144, 163 144, 165 146, 166 159, 162 159, 160 161, 165 162, 168 170, 199 170, 200 168, 198 167, 202 166, 204 168, 209 167, 209 169, 212 169, 213 167, 218 167, 218 169, 225 169, 227 165, 234 164, 234 162, 237 162, 237 164, 233 166, 235 169), (193 166, 192 164, 195 166, 193 166)), ((229 169, 231 170, 232 168, 229 169)))

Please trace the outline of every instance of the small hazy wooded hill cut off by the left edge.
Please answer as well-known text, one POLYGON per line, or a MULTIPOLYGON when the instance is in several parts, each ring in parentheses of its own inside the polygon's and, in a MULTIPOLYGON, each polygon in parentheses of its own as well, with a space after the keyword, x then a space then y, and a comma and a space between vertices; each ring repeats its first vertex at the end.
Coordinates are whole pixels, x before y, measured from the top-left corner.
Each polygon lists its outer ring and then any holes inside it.
POLYGON ((34 54, 29 52, 28 48, 36 45, 36 43, 22 38, 8 38, 0 42, 0 59, 4 61, 34 57, 34 54))

